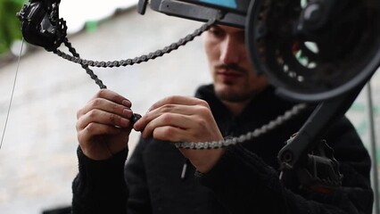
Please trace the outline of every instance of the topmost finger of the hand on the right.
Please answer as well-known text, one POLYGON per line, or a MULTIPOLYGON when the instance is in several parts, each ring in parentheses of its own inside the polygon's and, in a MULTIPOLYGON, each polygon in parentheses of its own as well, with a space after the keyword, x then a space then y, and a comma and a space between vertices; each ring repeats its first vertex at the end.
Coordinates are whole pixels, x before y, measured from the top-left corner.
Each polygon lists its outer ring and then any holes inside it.
POLYGON ((154 109, 157 109, 165 104, 203 105, 209 108, 209 104, 201 99, 198 99, 195 97, 174 95, 174 96, 166 97, 158 101, 157 103, 154 103, 151 106, 151 108, 149 108, 149 111, 153 111, 154 109))

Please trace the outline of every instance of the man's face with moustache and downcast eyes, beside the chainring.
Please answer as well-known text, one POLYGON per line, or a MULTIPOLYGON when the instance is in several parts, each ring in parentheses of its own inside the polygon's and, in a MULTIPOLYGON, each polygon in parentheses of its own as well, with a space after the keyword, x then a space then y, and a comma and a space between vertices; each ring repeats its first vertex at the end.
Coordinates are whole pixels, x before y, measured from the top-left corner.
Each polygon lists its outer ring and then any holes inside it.
POLYGON ((204 36, 215 92, 222 101, 239 103, 252 99, 268 81, 252 68, 244 43, 244 29, 214 26, 204 36))

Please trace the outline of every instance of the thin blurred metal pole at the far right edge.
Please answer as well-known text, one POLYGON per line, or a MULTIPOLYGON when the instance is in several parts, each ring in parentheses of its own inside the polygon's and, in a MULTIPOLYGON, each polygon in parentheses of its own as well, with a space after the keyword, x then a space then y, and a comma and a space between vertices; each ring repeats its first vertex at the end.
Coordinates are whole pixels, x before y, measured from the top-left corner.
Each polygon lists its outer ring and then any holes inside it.
POLYGON ((375 122, 374 122, 374 109, 373 109, 373 103, 372 103, 372 90, 371 90, 371 83, 368 81, 367 84, 367 101, 368 101, 368 120, 369 120, 369 140, 371 143, 371 155, 373 160, 373 187, 374 187, 374 213, 380 214, 380 204, 379 204, 379 185, 378 185, 378 172, 377 172, 377 154, 376 154, 376 136, 375 136, 375 122))

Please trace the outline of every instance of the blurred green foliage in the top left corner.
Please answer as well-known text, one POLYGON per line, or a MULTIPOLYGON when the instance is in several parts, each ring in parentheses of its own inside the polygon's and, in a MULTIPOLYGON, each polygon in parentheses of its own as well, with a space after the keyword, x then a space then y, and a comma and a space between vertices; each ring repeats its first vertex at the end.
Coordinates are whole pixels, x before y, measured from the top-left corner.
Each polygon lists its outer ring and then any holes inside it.
POLYGON ((25 0, 0 0, 0 54, 9 51, 15 39, 21 39, 21 22, 16 12, 25 0))

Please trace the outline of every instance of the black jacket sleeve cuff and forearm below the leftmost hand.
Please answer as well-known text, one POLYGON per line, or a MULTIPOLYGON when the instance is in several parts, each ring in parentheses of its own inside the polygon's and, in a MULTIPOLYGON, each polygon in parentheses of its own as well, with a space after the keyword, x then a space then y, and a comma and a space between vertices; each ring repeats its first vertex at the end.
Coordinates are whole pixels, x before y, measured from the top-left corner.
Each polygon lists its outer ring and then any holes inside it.
POLYGON ((127 212, 128 189, 124 165, 128 150, 107 161, 88 159, 78 148, 79 172, 72 182, 73 214, 123 214, 127 212))

